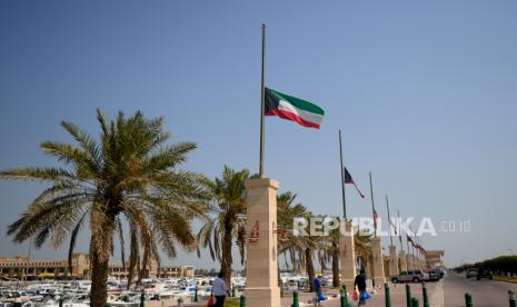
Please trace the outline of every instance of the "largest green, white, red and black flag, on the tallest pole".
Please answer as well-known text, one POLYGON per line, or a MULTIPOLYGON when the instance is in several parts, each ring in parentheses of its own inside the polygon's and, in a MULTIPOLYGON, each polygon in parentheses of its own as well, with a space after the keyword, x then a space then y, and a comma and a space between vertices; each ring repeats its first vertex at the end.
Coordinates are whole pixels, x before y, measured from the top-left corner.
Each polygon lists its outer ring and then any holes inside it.
POLYGON ((266 88, 266 116, 278 116, 304 127, 319 129, 325 111, 306 100, 266 88))

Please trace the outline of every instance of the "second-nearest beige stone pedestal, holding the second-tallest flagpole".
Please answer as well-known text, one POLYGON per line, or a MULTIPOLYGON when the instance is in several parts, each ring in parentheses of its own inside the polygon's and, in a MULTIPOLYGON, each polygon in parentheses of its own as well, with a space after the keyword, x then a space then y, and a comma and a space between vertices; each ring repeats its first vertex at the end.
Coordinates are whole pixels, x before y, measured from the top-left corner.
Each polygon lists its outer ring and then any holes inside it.
POLYGON ((354 245, 354 225, 351 220, 341 220, 339 248, 341 255, 341 285, 347 285, 348 291, 351 291, 356 279, 356 246, 354 245))

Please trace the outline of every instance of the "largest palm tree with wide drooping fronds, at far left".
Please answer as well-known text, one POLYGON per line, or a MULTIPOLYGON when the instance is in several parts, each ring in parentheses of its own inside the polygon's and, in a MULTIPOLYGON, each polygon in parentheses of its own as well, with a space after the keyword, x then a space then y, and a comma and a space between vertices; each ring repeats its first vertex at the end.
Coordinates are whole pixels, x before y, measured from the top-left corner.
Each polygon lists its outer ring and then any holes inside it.
POLYGON ((69 264, 76 239, 89 222, 91 306, 105 306, 113 236, 125 264, 125 226, 129 228, 129 283, 135 268, 139 279, 149 261, 160 264, 158 246, 175 257, 177 244, 195 249, 191 220, 203 216, 202 176, 178 170, 196 143, 166 145, 162 118, 146 119, 140 111, 113 120, 97 110, 98 140, 76 125, 62 121, 77 143, 46 141, 41 150, 64 167, 29 167, 0 171, 0 178, 49 182, 20 219, 8 227, 14 242, 33 236, 37 248, 48 239, 52 247, 70 234, 69 264), (141 254, 140 254, 141 250, 141 254))

